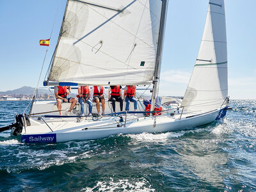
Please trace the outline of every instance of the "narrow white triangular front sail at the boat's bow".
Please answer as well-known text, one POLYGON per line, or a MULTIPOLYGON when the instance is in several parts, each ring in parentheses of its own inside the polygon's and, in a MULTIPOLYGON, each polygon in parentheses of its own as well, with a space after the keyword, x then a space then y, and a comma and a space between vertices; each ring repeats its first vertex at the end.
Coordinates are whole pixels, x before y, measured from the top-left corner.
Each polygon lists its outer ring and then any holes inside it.
POLYGON ((227 95, 224 0, 210 0, 200 50, 181 106, 189 111, 210 111, 220 108, 227 95))

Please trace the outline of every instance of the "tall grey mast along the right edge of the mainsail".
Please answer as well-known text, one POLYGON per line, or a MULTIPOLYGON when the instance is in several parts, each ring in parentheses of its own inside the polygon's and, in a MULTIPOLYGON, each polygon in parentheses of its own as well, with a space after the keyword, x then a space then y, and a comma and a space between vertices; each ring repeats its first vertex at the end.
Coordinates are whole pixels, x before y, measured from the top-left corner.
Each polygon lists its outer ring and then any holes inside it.
POLYGON ((161 60, 162 60, 162 52, 163 52, 164 26, 165 26, 165 20, 166 20, 168 0, 162 0, 162 1, 163 1, 163 4, 162 4, 162 10, 161 10, 160 26, 159 26, 159 38, 158 38, 158 47, 157 47, 157 55, 156 55, 156 67, 155 67, 154 79, 153 79, 153 92, 152 92, 152 97, 151 97, 150 111, 154 111, 155 104, 156 104, 156 97, 158 95, 161 60))

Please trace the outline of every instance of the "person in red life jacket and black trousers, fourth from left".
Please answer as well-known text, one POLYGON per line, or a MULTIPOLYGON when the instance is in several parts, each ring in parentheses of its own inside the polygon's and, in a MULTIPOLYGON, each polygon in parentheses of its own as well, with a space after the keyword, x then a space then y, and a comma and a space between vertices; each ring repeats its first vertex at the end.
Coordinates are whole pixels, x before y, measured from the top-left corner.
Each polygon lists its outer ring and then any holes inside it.
POLYGON ((108 100, 112 101, 113 112, 116 112, 116 101, 120 102, 120 111, 123 111, 122 86, 110 86, 108 89, 108 100), (111 93, 110 93, 111 92, 111 93))

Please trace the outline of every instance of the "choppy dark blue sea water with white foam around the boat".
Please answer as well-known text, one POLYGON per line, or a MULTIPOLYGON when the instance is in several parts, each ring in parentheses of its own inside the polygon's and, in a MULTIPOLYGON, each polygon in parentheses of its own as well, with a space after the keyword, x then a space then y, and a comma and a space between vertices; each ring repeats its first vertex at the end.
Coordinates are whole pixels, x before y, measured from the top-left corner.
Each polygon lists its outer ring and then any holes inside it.
MULTIPOLYGON (((0 101, 0 127, 28 104, 0 101)), ((190 131, 47 145, 1 132, 0 191, 256 191, 256 100, 230 106, 190 131)))

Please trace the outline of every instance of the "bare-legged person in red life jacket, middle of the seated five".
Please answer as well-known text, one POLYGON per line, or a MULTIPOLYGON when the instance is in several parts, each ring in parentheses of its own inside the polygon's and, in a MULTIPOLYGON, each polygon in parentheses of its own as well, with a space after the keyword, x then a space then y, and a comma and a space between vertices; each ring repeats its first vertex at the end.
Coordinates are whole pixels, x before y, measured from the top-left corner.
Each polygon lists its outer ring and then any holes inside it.
POLYGON ((96 108, 98 115, 100 114, 100 102, 102 104, 102 115, 105 114, 105 99, 104 99, 105 88, 104 86, 93 86, 91 90, 91 99, 96 102, 96 108))

